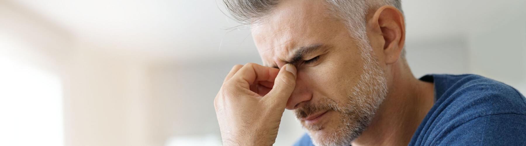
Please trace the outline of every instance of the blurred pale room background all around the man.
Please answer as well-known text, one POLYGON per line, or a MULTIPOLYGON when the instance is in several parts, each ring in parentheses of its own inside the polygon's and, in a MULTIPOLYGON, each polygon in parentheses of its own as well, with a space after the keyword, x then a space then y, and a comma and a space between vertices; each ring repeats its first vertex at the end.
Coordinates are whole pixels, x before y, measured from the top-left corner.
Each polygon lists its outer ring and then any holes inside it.
MULTIPOLYGON (((526 1, 402 0, 416 77, 526 93, 526 1)), ((221 1, 0 0, 0 145, 220 145, 213 100, 261 63, 221 1)), ((304 131, 285 111, 275 145, 304 131)))

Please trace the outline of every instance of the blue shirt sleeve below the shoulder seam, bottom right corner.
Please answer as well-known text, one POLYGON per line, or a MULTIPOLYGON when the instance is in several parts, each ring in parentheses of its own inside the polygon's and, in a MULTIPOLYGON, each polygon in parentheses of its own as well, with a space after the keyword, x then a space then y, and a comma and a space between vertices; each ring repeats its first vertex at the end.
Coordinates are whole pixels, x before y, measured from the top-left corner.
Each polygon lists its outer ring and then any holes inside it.
POLYGON ((444 132, 432 145, 526 145, 525 131, 525 114, 490 114, 444 132))

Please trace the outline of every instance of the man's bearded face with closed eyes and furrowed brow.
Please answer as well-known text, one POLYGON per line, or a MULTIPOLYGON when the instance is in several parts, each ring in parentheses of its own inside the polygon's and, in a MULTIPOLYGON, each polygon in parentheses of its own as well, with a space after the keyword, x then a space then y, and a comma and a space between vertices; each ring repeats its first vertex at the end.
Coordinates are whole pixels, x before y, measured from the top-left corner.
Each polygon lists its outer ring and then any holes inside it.
POLYGON ((321 1, 282 1, 252 36, 266 66, 297 67, 287 102, 316 145, 349 144, 386 96, 383 69, 369 44, 359 48, 321 1), (366 50, 366 51, 364 51, 366 50))

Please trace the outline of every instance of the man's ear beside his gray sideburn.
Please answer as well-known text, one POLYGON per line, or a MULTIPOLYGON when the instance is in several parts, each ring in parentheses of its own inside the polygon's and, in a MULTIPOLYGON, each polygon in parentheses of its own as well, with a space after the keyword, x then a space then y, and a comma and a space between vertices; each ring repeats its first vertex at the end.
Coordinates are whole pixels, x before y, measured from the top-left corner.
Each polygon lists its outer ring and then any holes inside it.
POLYGON ((397 62, 406 40, 406 25, 402 13, 393 6, 382 6, 369 20, 369 27, 374 34, 383 38, 383 44, 378 45, 383 46, 386 64, 397 62))

